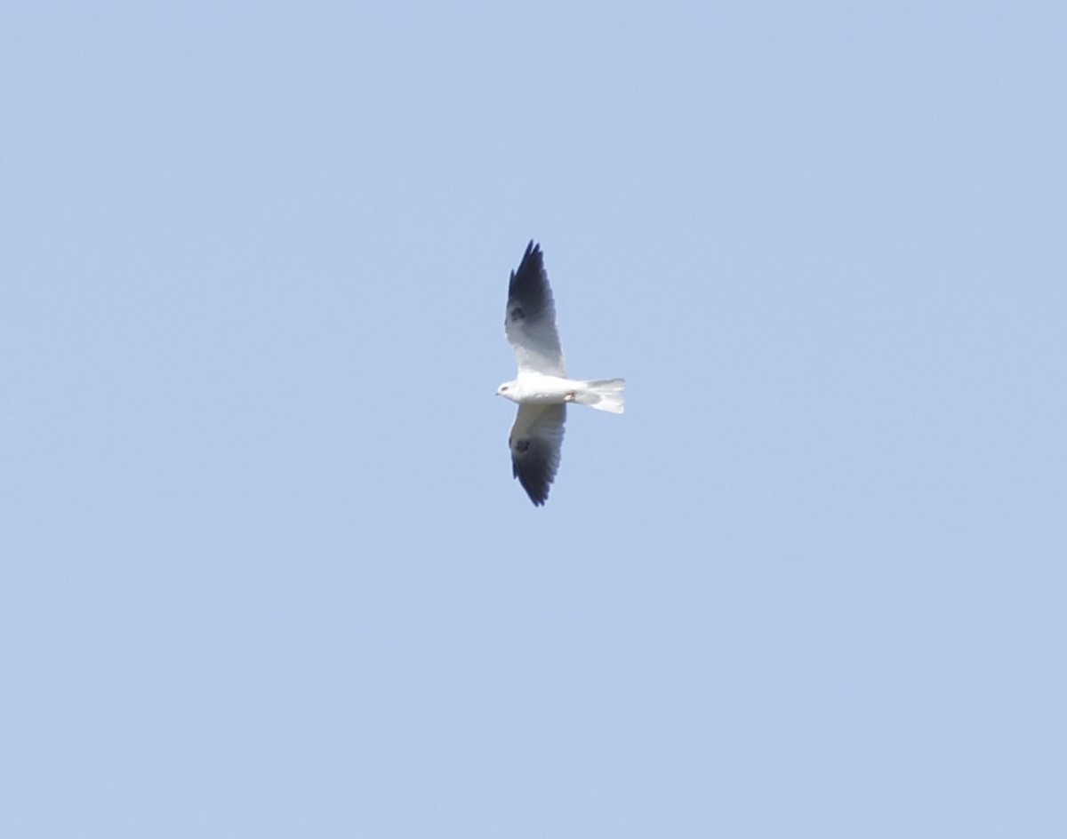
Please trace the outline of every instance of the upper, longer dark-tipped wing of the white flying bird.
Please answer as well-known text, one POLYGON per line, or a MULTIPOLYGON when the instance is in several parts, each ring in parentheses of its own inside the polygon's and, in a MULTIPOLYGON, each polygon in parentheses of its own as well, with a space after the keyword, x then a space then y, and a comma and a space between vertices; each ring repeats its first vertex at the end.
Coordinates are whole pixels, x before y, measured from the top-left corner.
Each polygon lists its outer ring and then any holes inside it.
POLYGON ((504 332, 514 348, 520 372, 567 375, 544 257, 541 246, 532 241, 526 246, 519 270, 511 272, 504 332))

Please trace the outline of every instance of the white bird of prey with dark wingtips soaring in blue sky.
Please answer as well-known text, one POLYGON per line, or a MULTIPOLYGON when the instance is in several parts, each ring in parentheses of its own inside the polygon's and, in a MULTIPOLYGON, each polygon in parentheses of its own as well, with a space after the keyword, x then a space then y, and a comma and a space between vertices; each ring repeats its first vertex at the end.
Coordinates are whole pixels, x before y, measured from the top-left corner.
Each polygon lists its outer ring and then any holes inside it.
POLYGON ((519 361, 514 381, 496 389, 496 396, 519 404, 519 415, 508 437, 511 473, 530 501, 540 506, 548 499, 548 488, 559 469, 567 404, 576 402, 622 414, 626 382, 567 377, 544 257, 541 246, 532 241, 526 246, 519 270, 511 272, 504 333, 519 361))

